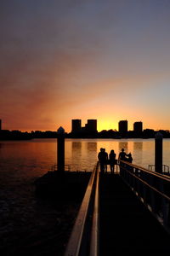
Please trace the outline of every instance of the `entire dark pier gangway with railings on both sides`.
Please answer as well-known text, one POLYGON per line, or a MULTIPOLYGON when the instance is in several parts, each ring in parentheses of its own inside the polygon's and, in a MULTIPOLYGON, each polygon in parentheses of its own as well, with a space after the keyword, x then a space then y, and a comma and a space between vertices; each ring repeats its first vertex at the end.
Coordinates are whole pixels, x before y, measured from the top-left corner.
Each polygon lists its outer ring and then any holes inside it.
POLYGON ((94 167, 65 256, 170 253, 170 177, 119 165, 115 174, 94 167))

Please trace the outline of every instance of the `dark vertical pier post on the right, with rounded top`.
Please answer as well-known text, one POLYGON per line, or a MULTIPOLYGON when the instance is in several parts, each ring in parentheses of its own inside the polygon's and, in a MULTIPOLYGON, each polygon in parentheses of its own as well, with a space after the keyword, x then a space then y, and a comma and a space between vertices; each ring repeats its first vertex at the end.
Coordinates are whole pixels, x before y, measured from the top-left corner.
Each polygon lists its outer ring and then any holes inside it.
POLYGON ((162 134, 156 133, 155 138, 155 170, 162 173, 162 134))

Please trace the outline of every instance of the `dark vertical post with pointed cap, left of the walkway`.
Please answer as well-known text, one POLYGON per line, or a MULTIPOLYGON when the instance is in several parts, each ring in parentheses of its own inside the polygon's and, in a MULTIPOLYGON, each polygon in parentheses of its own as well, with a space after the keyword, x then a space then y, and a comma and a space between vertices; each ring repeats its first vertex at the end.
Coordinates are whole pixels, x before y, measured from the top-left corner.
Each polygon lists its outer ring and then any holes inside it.
POLYGON ((57 131, 57 169, 59 172, 65 171, 65 129, 59 127, 57 131))

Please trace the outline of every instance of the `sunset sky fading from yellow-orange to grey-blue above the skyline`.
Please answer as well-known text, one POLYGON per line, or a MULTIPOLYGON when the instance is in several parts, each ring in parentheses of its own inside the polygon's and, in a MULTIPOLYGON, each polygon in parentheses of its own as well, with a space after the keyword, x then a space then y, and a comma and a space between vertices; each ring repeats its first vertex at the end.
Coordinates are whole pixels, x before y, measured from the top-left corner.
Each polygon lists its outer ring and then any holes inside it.
POLYGON ((169 0, 1 0, 3 129, 170 130, 169 0))

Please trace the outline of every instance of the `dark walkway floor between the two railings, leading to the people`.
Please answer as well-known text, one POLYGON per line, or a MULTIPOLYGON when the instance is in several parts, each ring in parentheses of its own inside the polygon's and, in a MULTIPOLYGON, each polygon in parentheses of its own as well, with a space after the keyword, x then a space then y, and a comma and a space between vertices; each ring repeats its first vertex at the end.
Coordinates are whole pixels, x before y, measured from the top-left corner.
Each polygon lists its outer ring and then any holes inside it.
POLYGON ((170 236, 122 177, 108 173, 99 183, 100 256, 170 255, 170 236))

